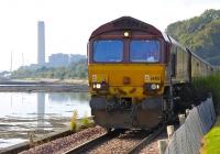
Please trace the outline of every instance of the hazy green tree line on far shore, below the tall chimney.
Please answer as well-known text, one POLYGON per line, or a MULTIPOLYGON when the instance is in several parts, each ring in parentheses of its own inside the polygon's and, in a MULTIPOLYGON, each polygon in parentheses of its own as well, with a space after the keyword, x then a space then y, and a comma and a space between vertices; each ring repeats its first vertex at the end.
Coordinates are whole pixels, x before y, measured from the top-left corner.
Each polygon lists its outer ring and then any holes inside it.
POLYGON ((43 66, 37 69, 20 68, 12 73, 12 78, 87 78, 87 59, 72 63, 67 67, 46 68, 43 66))

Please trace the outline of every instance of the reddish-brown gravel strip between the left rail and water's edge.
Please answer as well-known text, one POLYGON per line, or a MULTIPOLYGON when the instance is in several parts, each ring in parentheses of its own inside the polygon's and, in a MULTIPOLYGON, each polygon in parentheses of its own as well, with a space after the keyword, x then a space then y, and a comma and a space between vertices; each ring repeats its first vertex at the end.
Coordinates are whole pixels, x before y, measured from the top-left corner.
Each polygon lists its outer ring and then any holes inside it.
POLYGON ((64 152, 103 133, 106 133, 105 129, 95 127, 62 139, 54 140, 40 146, 35 146, 20 154, 63 154, 64 152))

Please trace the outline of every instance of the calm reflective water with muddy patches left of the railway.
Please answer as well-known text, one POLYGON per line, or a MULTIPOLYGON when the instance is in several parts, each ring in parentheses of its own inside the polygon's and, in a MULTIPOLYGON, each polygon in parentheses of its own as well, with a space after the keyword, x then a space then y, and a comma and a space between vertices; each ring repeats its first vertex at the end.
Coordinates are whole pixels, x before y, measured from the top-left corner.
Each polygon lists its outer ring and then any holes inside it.
POLYGON ((0 148, 69 125, 73 111, 90 116, 86 92, 0 92, 0 148))

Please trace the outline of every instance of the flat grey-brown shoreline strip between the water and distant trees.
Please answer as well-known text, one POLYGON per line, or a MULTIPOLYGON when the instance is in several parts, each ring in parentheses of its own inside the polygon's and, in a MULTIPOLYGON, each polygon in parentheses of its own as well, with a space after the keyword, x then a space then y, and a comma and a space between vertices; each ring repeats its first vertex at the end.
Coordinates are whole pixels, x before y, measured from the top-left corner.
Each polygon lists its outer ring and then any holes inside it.
POLYGON ((7 80, 0 92, 88 92, 86 80, 7 80))

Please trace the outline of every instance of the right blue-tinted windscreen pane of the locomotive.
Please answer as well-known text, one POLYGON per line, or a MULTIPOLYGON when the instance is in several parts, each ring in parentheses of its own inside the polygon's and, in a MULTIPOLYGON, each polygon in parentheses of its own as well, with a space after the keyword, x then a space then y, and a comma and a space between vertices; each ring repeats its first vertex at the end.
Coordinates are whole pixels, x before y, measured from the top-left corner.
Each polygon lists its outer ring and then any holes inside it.
POLYGON ((131 41, 131 62, 156 63, 160 61, 160 42, 155 40, 131 41))

